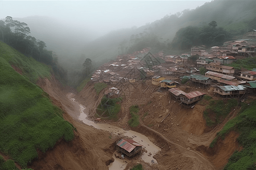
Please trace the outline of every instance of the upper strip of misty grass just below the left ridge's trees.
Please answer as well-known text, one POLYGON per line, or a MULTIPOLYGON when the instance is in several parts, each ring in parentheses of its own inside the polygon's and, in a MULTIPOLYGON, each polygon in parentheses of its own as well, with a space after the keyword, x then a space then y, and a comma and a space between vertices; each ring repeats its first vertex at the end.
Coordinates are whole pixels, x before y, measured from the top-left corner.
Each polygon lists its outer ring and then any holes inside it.
POLYGON ((51 67, 35 61, 32 57, 24 56, 3 42, 0 42, 0 52, 3 59, 11 65, 19 67, 23 75, 32 83, 36 83, 39 78, 50 78, 51 76, 51 67))

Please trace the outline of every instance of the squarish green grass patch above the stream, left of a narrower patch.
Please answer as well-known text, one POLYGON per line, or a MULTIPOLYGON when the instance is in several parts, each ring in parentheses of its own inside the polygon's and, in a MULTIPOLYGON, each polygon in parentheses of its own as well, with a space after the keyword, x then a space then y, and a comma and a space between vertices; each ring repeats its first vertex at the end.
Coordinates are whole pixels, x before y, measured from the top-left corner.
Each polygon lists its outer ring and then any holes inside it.
POLYGON ((96 109, 96 117, 117 121, 118 113, 121 109, 121 105, 118 104, 119 101, 122 101, 122 97, 109 99, 106 96, 103 96, 101 103, 96 109))

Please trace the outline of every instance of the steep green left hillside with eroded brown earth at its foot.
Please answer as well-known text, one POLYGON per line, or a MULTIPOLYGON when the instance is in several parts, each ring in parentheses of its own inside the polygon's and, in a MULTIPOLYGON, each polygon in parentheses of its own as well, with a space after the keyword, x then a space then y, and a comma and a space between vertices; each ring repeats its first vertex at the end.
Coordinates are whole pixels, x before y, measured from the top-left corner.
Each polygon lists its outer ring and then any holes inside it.
POLYGON ((55 99, 56 94, 65 99, 65 88, 51 75, 51 68, 3 42, 0 51, 0 165, 3 169, 15 166, 107 169, 105 162, 110 155, 104 148, 112 145, 112 141, 93 151, 89 149, 94 143, 106 141, 108 134, 73 121, 67 114, 76 112, 72 102, 61 103, 55 99))

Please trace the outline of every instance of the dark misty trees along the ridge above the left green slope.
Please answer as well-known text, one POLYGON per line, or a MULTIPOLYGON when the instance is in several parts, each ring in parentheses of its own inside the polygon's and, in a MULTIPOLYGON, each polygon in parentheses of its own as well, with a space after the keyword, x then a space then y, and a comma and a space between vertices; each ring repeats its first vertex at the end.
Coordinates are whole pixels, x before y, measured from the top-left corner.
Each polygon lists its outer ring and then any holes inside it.
POLYGON ((44 41, 36 40, 35 37, 29 35, 30 28, 26 23, 6 16, 5 22, 0 20, 0 32, 2 32, 3 42, 20 53, 51 66, 60 82, 67 83, 67 71, 58 65, 56 54, 45 49, 44 41))

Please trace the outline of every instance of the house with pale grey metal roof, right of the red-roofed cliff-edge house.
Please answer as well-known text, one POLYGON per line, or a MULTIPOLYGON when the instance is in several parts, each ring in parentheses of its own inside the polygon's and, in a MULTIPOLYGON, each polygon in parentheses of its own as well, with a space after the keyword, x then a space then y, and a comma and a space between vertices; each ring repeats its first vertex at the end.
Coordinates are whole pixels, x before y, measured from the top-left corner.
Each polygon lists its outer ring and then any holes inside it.
POLYGON ((243 87, 242 85, 238 85, 238 86, 218 86, 214 88, 214 92, 216 94, 219 94, 221 96, 236 96, 238 95, 238 97, 240 95, 245 94, 246 92, 246 87, 243 87))

